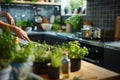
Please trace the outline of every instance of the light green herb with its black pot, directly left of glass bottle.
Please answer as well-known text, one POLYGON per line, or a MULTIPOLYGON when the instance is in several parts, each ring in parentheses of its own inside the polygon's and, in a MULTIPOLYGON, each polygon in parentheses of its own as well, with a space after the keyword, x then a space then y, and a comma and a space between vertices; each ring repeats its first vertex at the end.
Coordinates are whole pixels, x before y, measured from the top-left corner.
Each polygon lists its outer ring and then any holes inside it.
POLYGON ((50 52, 51 53, 50 53, 50 63, 48 64, 48 77, 53 80, 59 79, 62 48, 60 46, 57 46, 53 48, 50 52))

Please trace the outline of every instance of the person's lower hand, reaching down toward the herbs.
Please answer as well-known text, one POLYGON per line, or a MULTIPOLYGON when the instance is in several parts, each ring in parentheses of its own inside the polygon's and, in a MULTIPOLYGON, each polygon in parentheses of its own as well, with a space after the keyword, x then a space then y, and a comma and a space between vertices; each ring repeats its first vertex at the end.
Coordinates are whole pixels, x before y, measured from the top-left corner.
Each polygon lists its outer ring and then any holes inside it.
POLYGON ((16 33, 16 35, 24 40, 30 41, 30 39, 27 36, 27 33, 22 30, 21 28, 14 26, 12 30, 16 33))

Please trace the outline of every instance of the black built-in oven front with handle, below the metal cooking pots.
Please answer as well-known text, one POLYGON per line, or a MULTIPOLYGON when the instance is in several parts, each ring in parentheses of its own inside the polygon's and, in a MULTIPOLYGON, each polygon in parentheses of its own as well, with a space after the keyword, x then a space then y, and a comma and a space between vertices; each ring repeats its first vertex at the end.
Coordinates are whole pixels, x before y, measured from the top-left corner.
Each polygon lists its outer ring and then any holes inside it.
POLYGON ((103 47, 93 46, 85 43, 81 43, 81 46, 86 46, 89 51, 89 54, 83 58, 84 60, 99 66, 103 66, 103 47))

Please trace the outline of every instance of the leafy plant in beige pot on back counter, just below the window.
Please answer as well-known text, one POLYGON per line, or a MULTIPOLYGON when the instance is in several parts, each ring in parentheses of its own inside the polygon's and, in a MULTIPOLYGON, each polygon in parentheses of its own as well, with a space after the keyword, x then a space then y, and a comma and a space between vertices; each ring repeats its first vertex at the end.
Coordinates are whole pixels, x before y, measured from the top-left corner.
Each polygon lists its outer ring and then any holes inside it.
POLYGON ((82 17, 79 15, 70 16, 64 22, 66 23, 66 31, 67 32, 76 32, 76 31, 81 30, 82 17), (69 28, 71 28, 71 29, 69 29, 69 28), (68 30, 71 30, 71 31, 68 31, 68 30), (73 31, 73 30, 76 30, 76 31, 73 31))

